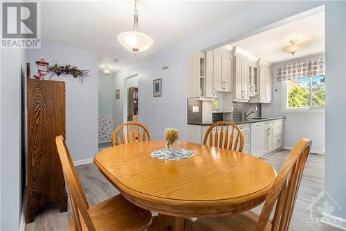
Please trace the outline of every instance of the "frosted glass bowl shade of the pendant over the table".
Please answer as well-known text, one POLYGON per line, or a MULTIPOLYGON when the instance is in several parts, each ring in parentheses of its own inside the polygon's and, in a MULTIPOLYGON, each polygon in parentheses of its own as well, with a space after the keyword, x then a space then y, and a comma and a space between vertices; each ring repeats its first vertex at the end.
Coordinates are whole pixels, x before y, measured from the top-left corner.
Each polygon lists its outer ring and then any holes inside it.
POLYGON ((135 53, 149 49, 154 43, 152 37, 137 31, 125 31, 118 35, 118 41, 129 51, 135 53))

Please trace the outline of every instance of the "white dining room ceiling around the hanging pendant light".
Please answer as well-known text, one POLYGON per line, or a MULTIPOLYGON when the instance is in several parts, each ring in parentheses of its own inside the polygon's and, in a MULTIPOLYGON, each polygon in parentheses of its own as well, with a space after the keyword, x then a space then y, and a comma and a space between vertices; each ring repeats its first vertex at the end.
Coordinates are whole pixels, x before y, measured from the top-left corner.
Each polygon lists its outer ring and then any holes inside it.
POLYGON ((167 46, 202 31, 253 6, 253 1, 143 1, 138 4, 140 31, 154 45, 134 55, 116 37, 131 31, 134 2, 127 1, 42 1, 42 39, 99 54, 99 67, 111 71, 143 60, 167 46), (114 59, 119 62, 113 62, 114 59))

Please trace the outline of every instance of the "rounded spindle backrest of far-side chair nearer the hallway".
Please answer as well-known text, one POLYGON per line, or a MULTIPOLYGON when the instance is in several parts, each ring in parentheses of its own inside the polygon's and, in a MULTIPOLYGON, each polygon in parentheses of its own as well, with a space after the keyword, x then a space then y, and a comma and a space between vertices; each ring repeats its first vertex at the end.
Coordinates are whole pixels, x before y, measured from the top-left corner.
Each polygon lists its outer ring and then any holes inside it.
POLYGON ((143 124, 136 121, 130 121, 127 123, 122 123, 113 131, 111 136, 111 145, 116 146, 119 144, 127 144, 133 142, 145 142, 146 140, 151 140, 152 135, 149 132, 149 129, 143 124), (121 130, 121 134, 120 133, 121 130), (125 135, 124 130, 127 131, 125 135), (140 135, 140 130, 142 130, 142 135, 140 135))

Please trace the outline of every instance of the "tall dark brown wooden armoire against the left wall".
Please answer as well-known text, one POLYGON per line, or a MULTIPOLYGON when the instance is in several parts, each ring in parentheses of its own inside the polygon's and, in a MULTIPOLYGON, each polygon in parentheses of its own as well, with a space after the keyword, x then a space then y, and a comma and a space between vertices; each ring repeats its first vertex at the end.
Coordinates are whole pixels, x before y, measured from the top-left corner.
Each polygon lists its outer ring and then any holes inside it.
POLYGON ((62 164, 55 137, 65 135, 65 83, 53 80, 27 80, 28 202, 26 223, 33 222, 37 209, 55 201, 67 211, 62 164))

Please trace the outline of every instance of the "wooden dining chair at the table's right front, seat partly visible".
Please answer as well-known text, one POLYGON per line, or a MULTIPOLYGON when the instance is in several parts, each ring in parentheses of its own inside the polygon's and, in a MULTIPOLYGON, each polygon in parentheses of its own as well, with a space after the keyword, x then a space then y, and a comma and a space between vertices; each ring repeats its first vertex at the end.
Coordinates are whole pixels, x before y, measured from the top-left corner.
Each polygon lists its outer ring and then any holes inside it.
POLYGON ((197 219, 193 224, 196 231, 286 231, 293 213, 305 162, 310 152, 311 141, 300 139, 282 164, 260 216, 250 210, 233 216, 197 219), (269 216, 276 202, 273 221, 269 216))

